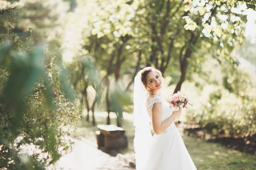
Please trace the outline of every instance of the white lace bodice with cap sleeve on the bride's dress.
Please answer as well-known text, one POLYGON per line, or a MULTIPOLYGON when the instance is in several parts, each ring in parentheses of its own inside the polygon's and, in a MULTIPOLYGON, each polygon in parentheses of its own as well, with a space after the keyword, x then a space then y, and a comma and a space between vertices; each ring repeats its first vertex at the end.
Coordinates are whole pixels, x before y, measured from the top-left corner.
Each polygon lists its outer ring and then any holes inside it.
POLYGON ((169 116, 172 115, 172 112, 174 111, 172 108, 169 107, 168 102, 162 97, 162 96, 154 96, 153 98, 149 99, 146 102, 146 106, 148 109, 148 115, 150 119, 152 120, 152 108, 154 103, 161 103, 162 104, 162 122, 167 119, 169 116))

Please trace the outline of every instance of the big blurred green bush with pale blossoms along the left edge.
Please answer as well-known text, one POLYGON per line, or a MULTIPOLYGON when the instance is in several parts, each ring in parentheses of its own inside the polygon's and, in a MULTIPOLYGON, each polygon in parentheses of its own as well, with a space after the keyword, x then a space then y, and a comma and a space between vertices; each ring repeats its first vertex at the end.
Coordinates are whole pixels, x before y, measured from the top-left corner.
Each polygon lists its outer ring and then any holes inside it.
POLYGON ((80 118, 79 103, 64 93, 58 57, 48 52, 45 63, 43 54, 41 47, 22 55, 12 46, 0 51, 1 167, 44 169, 70 147, 64 137, 80 118))

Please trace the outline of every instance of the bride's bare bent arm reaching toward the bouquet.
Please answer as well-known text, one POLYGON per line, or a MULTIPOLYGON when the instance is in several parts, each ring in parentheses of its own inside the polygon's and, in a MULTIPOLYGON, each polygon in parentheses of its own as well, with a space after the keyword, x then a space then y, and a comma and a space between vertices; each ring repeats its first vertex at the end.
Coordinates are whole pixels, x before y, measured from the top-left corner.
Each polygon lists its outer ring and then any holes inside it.
POLYGON ((154 103, 153 108, 152 108, 152 125, 153 125, 153 130, 156 135, 162 133, 164 130, 166 130, 167 127, 169 127, 172 122, 177 119, 180 114, 181 110, 174 111, 172 113, 172 116, 164 120, 163 122, 161 121, 162 119, 162 103, 154 103))

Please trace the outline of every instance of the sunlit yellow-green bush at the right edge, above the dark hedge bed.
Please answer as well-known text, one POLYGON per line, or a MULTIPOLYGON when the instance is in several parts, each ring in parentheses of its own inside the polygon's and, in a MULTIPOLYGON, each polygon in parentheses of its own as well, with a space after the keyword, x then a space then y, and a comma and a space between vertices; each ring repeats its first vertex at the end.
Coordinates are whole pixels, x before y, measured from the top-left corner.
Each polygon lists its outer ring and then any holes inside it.
MULTIPOLYGON (((224 87, 209 95, 201 109, 187 115, 208 131, 209 136, 220 134, 256 133, 256 78, 252 72, 225 69, 224 87)), ((208 137, 209 137, 208 136, 208 137)))

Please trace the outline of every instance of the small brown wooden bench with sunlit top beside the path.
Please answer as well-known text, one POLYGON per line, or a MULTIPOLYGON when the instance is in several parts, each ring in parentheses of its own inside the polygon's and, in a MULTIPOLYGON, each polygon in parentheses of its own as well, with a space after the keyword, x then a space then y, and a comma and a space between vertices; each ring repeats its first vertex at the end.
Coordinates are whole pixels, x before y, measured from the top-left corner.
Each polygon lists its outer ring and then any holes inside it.
POLYGON ((116 125, 97 125, 96 139, 98 147, 105 149, 119 149, 128 146, 127 136, 122 127, 116 125))

